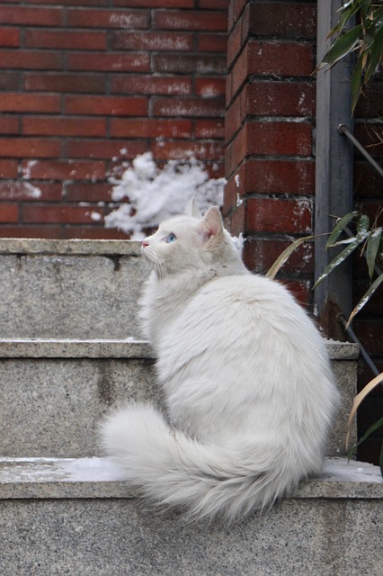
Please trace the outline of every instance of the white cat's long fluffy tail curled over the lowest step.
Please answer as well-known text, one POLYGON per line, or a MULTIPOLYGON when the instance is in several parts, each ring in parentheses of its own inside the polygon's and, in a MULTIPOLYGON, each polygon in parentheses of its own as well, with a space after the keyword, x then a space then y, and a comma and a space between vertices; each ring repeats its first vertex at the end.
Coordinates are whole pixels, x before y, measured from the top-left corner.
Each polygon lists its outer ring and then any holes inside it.
POLYGON ((289 463, 282 448, 254 437, 233 439, 226 446, 201 444, 169 428, 149 406, 131 406, 106 419, 102 444, 144 497, 182 507, 190 519, 232 522, 271 505, 305 472, 298 462, 289 463))

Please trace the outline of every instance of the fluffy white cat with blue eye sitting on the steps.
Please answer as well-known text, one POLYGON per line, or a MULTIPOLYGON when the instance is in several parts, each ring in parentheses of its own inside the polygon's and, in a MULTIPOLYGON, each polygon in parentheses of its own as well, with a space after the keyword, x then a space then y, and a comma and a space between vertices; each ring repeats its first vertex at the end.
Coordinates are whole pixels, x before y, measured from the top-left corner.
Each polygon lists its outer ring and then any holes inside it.
POLYGON ((133 404, 102 443, 149 500, 231 522, 321 470, 338 400, 325 341, 281 284, 245 268, 216 207, 165 221, 142 254, 170 424, 133 404))

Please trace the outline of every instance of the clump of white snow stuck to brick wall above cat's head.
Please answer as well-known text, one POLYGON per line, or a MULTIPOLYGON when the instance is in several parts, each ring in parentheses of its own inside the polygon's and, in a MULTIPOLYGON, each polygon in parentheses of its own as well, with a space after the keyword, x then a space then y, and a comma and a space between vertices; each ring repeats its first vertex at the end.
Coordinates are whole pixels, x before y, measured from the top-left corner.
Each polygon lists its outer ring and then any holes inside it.
POLYGON ((118 228, 134 240, 145 238, 146 229, 183 213, 194 197, 200 211, 222 205, 225 178, 209 179, 202 163, 190 156, 170 160, 160 169, 151 152, 136 157, 119 181, 112 181, 111 200, 121 202, 105 217, 106 228, 118 228))

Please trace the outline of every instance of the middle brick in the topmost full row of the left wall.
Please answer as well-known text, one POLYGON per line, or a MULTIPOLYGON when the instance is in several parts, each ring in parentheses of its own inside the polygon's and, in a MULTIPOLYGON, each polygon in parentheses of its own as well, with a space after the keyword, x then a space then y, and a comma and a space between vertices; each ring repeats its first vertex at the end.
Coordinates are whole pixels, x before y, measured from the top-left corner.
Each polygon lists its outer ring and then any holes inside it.
MULTIPOLYGON (((126 4, 125 4, 126 5, 126 4)), ((67 10, 68 26, 81 28, 133 28, 143 30, 150 25, 148 11, 111 10, 90 8, 69 8, 67 10)))

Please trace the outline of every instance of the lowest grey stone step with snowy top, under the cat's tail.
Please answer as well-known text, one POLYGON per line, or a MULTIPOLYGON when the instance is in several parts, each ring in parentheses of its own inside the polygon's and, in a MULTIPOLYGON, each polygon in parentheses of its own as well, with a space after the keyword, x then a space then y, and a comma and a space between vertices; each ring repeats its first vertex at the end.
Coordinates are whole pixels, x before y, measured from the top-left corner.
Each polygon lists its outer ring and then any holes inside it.
POLYGON ((234 527, 147 511, 107 461, 2 459, 0 575, 381 576, 383 484, 330 459, 234 527))

